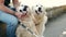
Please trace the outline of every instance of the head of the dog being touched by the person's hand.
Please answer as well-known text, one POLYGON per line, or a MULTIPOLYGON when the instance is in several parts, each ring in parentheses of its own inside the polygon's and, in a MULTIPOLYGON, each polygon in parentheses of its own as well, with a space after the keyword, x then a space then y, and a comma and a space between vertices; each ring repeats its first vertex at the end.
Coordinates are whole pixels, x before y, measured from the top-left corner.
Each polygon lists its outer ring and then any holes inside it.
POLYGON ((24 14, 23 16, 31 15, 30 7, 25 4, 20 4, 20 7, 18 8, 18 12, 22 12, 24 14))

